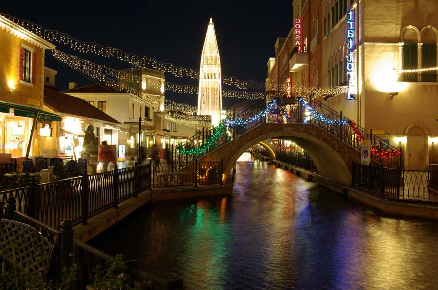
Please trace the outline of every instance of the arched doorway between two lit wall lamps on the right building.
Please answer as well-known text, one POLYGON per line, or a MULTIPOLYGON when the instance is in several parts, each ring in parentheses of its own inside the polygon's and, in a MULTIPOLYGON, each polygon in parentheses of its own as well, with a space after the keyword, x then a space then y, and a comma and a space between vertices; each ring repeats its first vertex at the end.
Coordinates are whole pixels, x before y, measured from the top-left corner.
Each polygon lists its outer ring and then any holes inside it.
POLYGON ((406 135, 405 168, 425 170, 427 167, 427 129, 420 124, 414 124, 406 129, 406 135))

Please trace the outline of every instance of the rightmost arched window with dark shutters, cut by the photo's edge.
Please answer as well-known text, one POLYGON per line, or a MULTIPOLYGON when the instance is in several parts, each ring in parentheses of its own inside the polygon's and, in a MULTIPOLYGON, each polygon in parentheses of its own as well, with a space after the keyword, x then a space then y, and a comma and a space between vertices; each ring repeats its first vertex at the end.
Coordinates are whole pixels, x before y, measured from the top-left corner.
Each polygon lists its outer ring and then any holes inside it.
MULTIPOLYGON (((421 68, 437 67, 437 40, 438 31, 435 27, 428 25, 420 32, 421 45, 421 68)), ((437 82, 437 71, 421 72, 421 81, 437 82)))

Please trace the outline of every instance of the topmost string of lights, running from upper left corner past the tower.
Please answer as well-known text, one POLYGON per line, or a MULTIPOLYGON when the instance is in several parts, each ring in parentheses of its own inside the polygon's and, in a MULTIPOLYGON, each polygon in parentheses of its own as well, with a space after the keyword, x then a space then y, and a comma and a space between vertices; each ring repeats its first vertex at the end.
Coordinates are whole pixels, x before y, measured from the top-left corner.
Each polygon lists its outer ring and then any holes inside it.
MULTIPOLYGON (((172 63, 164 63, 148 56, 138 56, 137 54, 127 53, 123 50, 99 45, 95 42, 84 42, 73 38, 72 36, 56 30, 47 29, 41 25, 29 21, 14 18, 8 14, 0 13, 5 18, 17 23, 28 31, 40 36, 50 42, 57 42, 69 46, 71 49, 81 53, 97 54, 103 57, 116 57, 121 61, 130 63, 135 67, 149 66, 160 72, 169 72, 175 76, 183 77, 184 75, 192 78, 199 78, 199 71, 189 67, 177 67, 172 63)), ((242 81, 235 76, 222 76, 222 84, 233 85, 238 89, 255 89, 262 91, 265 89, 265 82, 256 82, 254 80, 242 81)))

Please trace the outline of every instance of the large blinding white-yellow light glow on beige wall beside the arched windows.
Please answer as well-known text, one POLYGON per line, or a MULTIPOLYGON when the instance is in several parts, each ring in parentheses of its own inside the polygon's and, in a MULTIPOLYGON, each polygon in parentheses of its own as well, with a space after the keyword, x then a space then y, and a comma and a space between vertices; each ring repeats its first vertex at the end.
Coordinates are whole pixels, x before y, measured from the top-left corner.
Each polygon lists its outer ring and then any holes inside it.
POLYGON ((386 62, 375 64, 374 70, 371 72, 371 81, 378 91, 382 92, 401 92, 408 87, 407 83, 399 82, 399 75, 386 62))

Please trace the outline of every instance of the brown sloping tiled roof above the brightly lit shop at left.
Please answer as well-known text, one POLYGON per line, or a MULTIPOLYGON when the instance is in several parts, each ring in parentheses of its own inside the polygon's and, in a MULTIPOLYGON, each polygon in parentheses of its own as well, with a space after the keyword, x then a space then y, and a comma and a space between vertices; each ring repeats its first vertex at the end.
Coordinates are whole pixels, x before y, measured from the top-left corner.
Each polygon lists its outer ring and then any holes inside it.
POLYGON ((54 91, 48 87, 44 87, 44 105, 57 113, 71 114, 73 116, 120 124, 119 121, 97 109, 87 101, 60 91, 54 91))

